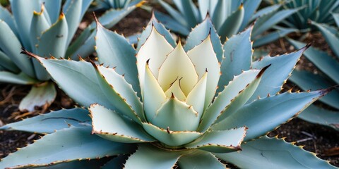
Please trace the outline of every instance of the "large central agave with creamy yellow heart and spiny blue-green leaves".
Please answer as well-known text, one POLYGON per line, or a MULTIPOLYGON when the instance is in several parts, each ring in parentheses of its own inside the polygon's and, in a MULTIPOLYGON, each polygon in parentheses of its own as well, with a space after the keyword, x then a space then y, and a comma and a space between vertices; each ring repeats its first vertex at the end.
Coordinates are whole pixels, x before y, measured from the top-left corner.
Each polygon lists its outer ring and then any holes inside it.
POLYGON ((90 168, 106 162, 97 160, 105 156, 112 159, 102 168, 225 168, 220 160, 240 168, 335 168, 266 137, 331 89, 280 94, 307 47, 252 62, 251 30, 222 45, 207 18, 182 46, 153 18, 133 49, 97 23, 99 63, 23 51, 88 110, 55 111, 1 127, 49 134, 3 158, 0 168, 90 168))

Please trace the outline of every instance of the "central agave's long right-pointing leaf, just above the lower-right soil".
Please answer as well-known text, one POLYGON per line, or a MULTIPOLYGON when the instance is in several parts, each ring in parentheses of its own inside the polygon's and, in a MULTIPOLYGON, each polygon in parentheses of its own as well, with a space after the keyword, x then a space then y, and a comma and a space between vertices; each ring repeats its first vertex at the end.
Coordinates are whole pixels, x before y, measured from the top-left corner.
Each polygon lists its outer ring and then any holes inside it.
POLYGON ((302 93, 285 92, 258 99, 251 104, 246 104, 220 123, 216 123, 212 129, 227 130, 246 126, 249 129, 246 131, 245 141, 255 139, 285 123, 328 92, 328 89, 302 93))

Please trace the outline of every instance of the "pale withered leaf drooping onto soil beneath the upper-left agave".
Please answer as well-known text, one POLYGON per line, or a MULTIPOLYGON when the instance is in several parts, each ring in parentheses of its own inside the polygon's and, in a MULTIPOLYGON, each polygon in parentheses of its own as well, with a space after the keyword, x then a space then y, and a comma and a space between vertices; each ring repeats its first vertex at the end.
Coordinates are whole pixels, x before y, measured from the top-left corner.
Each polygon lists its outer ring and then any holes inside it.
POLYGON ((28 95, 20 101, 19 110, 34 111, 35 106, 50 106, 56 96, 57 90, 55 89, 53 82, 37 84, 36 86, 33 86, 28 95))

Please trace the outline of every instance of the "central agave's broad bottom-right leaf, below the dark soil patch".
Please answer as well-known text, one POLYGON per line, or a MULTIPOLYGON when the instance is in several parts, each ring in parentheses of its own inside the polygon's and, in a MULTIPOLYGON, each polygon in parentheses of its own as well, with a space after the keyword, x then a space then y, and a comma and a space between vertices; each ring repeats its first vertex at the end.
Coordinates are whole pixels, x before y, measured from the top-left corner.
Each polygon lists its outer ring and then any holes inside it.
POLYGON ((215 156, 239 168, 335 168, 314 153, 269 137, 242 144, 242 151, 215 156))

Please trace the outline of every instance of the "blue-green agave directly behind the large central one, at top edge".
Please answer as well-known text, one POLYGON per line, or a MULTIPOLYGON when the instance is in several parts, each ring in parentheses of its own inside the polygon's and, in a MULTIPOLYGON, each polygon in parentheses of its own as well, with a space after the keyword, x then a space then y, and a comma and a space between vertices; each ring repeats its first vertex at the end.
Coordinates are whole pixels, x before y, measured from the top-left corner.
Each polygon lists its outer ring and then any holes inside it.
POLYGON ((251 39, 254 40, 254 47, 267 44, 279 37, 284 37, 290 32, 294 32, 295 29, 277 27, 275 24, 299 10, 297 8, 282 10, 282 4, 277 4, 256 12, 261 0, 199 0, 198 8, 192 0, 173 0, 172 2, 178 9, 176 10, 163 0, 157 1, 169 15, 155 12, 156 17, 170 30, 185 36, 189 35, 191 28, 201 23, 206 18, 206 15, 210 15, 222 42, 225 42, 227 37, 244 30, 245 27, 256 20, 256 25, 251 35, 251 39), (275 31, 263 35, 263 32, 273 27, 275 31))

